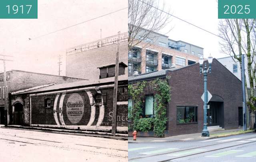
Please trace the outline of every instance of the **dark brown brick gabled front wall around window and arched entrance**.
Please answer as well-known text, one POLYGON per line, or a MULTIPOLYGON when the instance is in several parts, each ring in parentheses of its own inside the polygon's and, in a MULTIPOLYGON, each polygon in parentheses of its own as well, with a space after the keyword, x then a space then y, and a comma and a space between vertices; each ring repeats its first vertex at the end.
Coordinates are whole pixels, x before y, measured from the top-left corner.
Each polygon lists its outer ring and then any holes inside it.
MULTIPOLYGON (((203 129, 204 76, 199 73, 199 64, 194 64, 168 73, 170 76, 171 101, 167 117, 169 136, 200 133, 203 129), (198 106, 198 122, 177 124, 176 106, 198 106)), ((208 73, 207 88, 212 95, 224 99, 224 128, 238 128, 238 107, 242 106, 242 82, 216 59, 212 63, 212 73, 208 73)))

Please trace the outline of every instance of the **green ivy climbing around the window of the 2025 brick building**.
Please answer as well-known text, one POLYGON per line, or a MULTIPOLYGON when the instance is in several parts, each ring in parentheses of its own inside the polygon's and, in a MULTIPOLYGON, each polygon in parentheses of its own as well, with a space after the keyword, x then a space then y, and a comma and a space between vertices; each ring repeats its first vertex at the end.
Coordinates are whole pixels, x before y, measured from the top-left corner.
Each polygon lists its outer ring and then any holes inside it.
POLYGON ((166 106, 170 102, 170 86, 168 80, 156 79, 148 82, 137 82, 128 85, 128 95, 134 101, 133 107, 128 107, 128 116, 132 120, 133 130, 150 131, 154 125, 154 133, 158 137, 164 136, 166 129, 166 106), (146 86, 153 87, 154 90, 154 118, 140 118, 142 113, 142 100, 146 86))

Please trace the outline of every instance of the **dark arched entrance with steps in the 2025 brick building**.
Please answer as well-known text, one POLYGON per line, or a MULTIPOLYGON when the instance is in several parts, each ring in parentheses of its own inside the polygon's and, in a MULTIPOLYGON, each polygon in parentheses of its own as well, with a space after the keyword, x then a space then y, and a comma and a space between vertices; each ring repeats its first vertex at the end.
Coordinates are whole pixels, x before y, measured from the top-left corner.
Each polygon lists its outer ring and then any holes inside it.
POLYGON ((208 103, 210 109, 207 109, 207 126, 224 127, 224 100, 218 95, 212 95, 208 103))

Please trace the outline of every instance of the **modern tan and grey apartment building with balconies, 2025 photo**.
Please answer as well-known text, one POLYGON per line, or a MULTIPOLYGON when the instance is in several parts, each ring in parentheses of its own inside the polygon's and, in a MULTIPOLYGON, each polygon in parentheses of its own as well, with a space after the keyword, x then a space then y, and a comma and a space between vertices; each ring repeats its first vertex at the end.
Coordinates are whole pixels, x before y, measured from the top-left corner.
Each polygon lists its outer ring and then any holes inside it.
MULTIPOLYGON (((141 31, 141 35, 143 35, 141 31)), ((150 32, 128 52, 128 76, 181 67, 198 62, 204 49, 184 41, 174 41, 160 33, 150 32)))

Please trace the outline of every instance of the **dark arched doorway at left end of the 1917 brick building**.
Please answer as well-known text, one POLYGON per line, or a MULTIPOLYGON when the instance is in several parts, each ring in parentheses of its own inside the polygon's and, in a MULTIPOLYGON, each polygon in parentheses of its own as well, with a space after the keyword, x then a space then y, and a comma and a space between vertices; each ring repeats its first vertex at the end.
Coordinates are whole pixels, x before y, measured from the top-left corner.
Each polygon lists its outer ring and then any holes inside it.
POLYGON ((22 125, 23 123, 23 105, 20 102, 14 103, 12 106, 13 124, 22 125))

